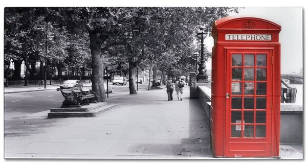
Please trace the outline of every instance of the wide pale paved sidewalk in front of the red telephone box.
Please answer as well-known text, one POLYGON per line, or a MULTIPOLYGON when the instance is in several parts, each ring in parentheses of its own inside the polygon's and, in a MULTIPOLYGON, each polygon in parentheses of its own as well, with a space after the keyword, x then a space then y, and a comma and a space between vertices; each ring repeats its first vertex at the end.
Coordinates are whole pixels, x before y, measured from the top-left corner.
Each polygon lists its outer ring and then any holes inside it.
MULTIPOLYGON (((167 101, 166 90, 118 95, 98 117, 53 118, 49 111, 5 120, 5 158, 215 159, 198 100, 167 101)), ((280 146, 281 159, 302 159, 302 146, 280 146)))

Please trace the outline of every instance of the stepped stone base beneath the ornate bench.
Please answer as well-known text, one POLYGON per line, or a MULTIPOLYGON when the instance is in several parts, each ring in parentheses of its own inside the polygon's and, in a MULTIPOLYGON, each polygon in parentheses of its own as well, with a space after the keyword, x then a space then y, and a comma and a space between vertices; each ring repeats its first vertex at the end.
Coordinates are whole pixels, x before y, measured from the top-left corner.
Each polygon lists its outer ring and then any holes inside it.
POLYGON ((96 117, 115 106, 115 104, 103 102, 92 103, 82 107, 52 108, 50 113, 48 113, 48 118, 96 117))

